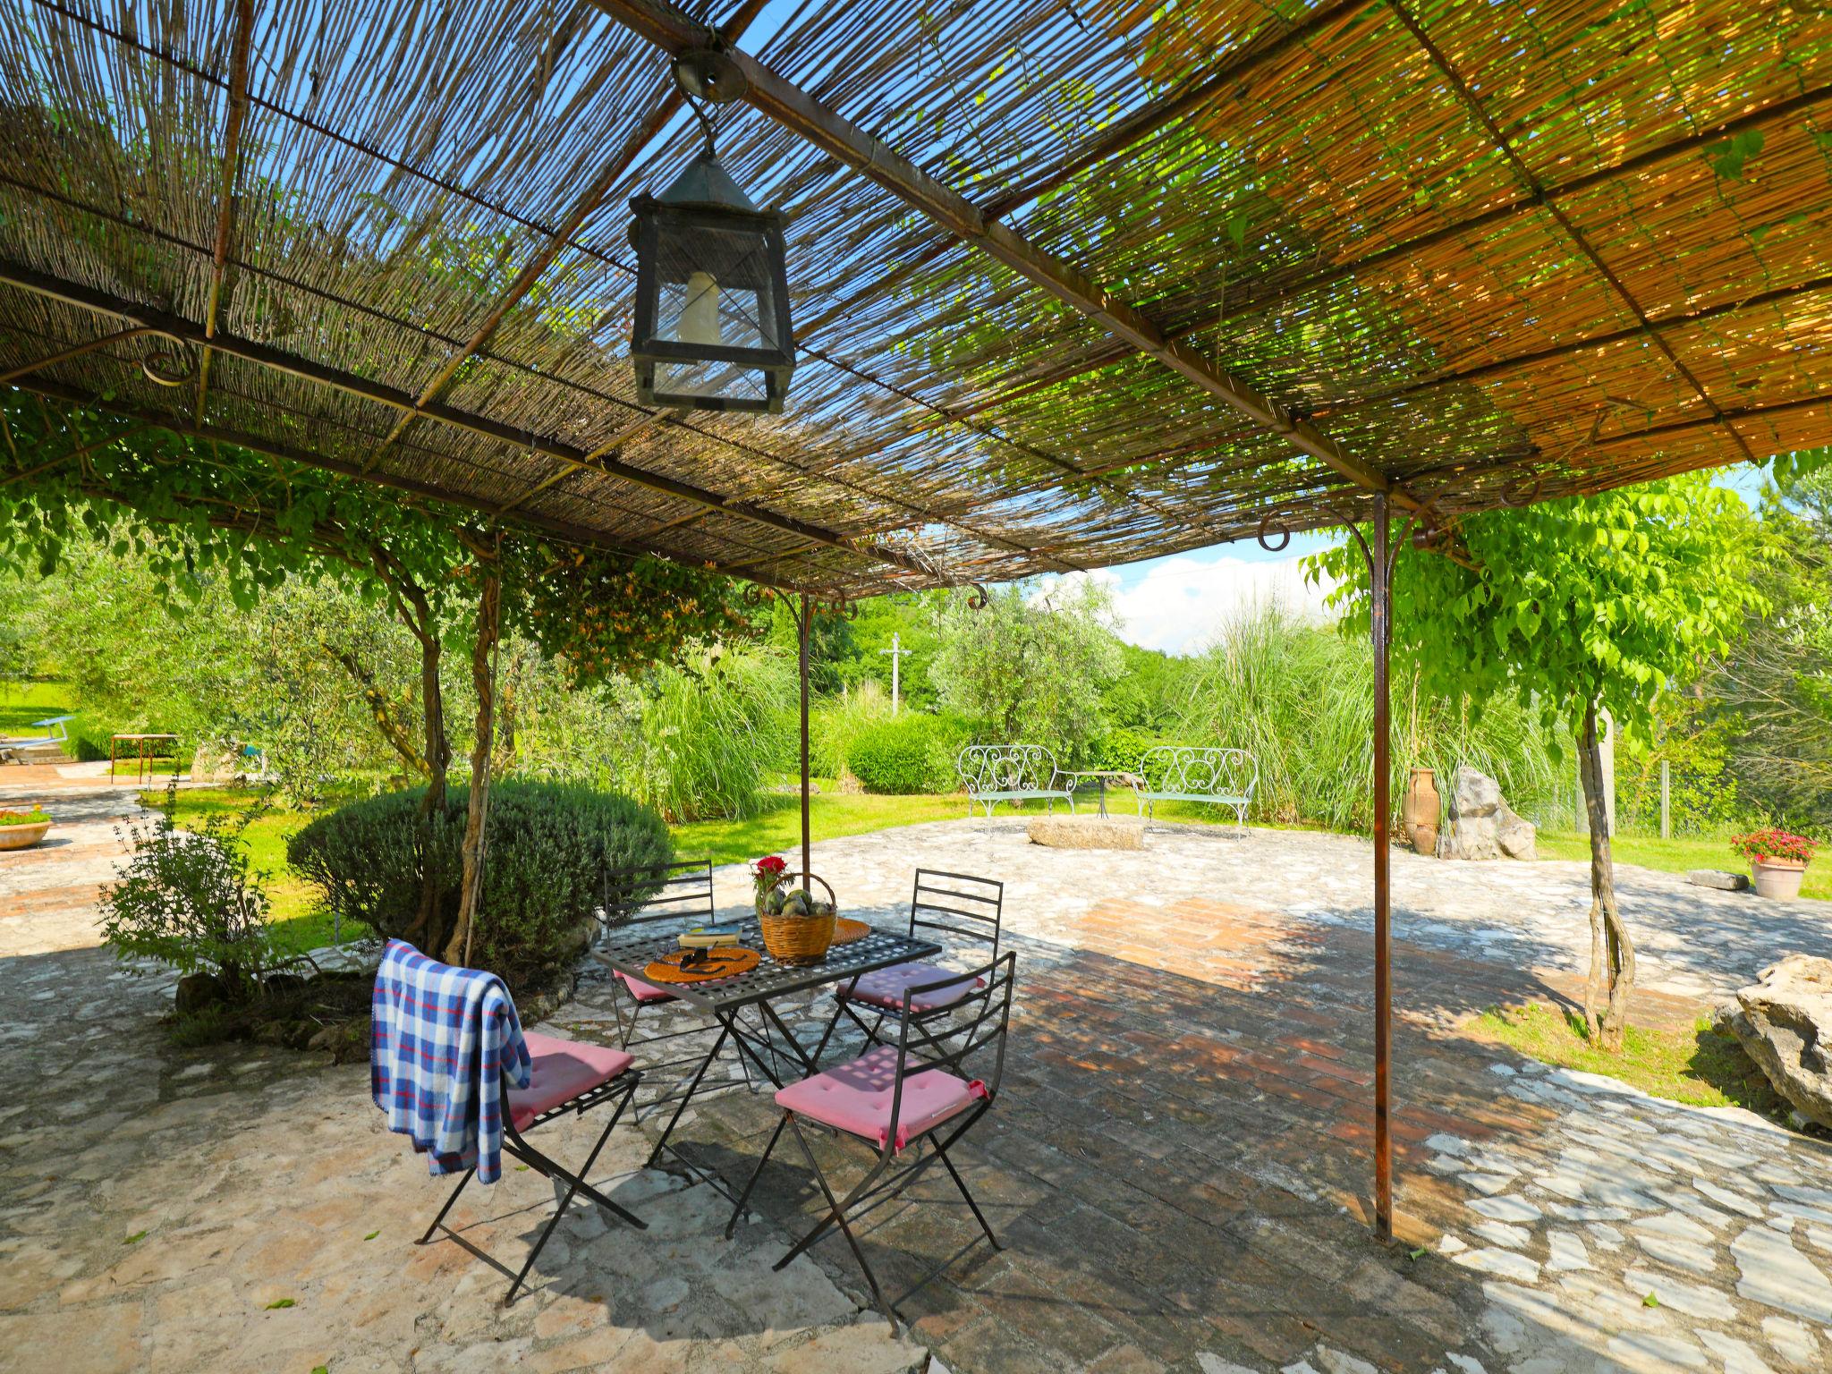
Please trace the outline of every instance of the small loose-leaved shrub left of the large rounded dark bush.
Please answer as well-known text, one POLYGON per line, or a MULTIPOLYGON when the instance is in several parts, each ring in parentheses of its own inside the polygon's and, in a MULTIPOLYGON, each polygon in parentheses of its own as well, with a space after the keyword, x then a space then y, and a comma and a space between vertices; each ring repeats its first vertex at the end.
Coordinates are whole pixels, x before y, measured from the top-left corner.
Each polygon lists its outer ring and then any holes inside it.
POLYGON ((191 832, 172 824, 170 797, 152 821, 125 826, 132 852, 103 898, 103 940, 121 960, 209 973, 227 1000, 244 1000, 289 962, 273 947, 266 874, 240 845, 264 808, 249 808, 236 823, 213 813, 191 832))

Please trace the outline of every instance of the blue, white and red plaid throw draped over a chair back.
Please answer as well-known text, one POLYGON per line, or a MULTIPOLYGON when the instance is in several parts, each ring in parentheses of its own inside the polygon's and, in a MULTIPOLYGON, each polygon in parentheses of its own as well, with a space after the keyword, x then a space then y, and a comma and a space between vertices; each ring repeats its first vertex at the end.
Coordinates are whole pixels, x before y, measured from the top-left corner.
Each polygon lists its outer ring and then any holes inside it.
POLYGON ((502 1174, 502 1075, 533 1077, 522 1022, 502 978, 454 969, 390 940, 376 969, 368 1059, 376 1107, 388 1130, 409 1136, 434 1174, 476 1165, 482 1183, 502 1174))

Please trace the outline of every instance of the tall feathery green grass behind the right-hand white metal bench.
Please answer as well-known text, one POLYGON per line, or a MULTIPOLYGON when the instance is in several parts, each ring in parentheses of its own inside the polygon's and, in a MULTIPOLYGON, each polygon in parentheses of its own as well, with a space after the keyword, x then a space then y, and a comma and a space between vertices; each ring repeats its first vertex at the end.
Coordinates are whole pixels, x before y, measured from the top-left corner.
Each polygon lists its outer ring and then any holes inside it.
MULTIPOLYGON (((1497 698, 1477 716, 1466 702, 1423 696, 1414 674, 1394 669, 1396 812, 1412 766, 1434 768, 1445 793, 1458 764, 1478 768, 1530 819, 1559 802, 1570 768, 1552 762, 1537 716, 1521 702, 1497 698)), ((1365 830, 1374 788, 1372 691, 1365 643, 1266 603, 1224 625, 1198 658, 1178 702, 1180 724, 1167 736, 1251 751, 1260 821, 1365 830)))

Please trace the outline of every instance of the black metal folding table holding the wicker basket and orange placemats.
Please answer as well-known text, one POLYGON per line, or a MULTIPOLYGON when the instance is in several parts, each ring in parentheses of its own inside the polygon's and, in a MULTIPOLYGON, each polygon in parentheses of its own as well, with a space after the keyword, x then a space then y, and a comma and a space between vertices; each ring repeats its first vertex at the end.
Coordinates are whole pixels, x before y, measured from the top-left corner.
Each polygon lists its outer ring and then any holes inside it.
MULTIPOLYGON (((700 1090, 705 1072, 713 1066, 713 1061, 718 1059, 720 1050, 725 1048, 725 1041, 733 1041, 738 1046, 738 1053, 746 1055, 758 1068, 758 1072, 762 1072, 762 1075, 779 1088, 788 1086, 784 1075, 777 1072, 784 1061, 801 1070, 797 1079, 819 1070, 813 1055, 802 1048, 801 1041, 795 1039, 795 1031, 788 1028, 782 1015, 771 1006, 775 998, 806 993, 808 989, 821 987, 824 984, 845 982, 861 973, 887 969, 894 964, 929 960, 942 953, 942 945, 932 940, 912 940, 905 934, 889 934, 887 931, 874 929, 859 940, 845 945, 834 945, 828 951, 826 960, 821 964, 777 964, 769 958, 769 951, 764 949, 764 936, 757 918, 744 921, 744 932, 738 940, 762 954, 757 967, 749 973, 736 973, 729 978, 713 978, 709 982, 665 984, 669 993, 718 1022, 718 1039, 713 1042, 705 1059, 700 1061, 700 1066, 694 1070, 685 1092, 680 1094, 680 1099, 674 1105, 674 1116, 669 1118, 669 1125, 661 1132, 661 1140, 656 1141, 656 1149, 649 1154, 650 1167, 661 1158, 661 1152, 667 1150, 692 1172, 702 1172, 691 1160, 669 1145, 669 1138, 674 1134, 674 1127, 680 1123, 682 1112, 687 1110, 687 1103, 692 1101, 700 1090), (738 1013, 746 1008, 757 1009, 760 1030, 751 1030, 738 1020, 738 1013)), ((658 931, 652 923, 645 921, 641 927, 614 931, 610 938, 597 947, 595 954, 599 962, 627 978, 643 982, 647 980, 649 965, 663 954, 672 954, 676 949, 680 949, 680 929, 658 931)))

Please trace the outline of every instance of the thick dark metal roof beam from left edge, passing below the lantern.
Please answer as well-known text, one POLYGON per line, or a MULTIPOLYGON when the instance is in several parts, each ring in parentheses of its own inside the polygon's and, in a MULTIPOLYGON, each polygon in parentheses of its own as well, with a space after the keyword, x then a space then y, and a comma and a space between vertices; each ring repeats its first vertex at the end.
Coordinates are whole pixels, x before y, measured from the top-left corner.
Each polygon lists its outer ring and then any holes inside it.
MULTIPOLYGON (((145 324, 148 328, 169 333, 174 339, 189 343, 202 348, 205 343, 203 330, 189 321, 161 315, 147 306, 139 306, 132 300, 121 300, 119 297, 110 297, 103 291, 95 291, 88 286, 79 286, 77 282, 66 282, 46 273, 33 271, 29 267, 20 267, 11 262, 0 262, 0 284, 15 286, 35 295, 59 300, 79 310, 88 310, 97 315, 110 315, 114 319, 125 319, 130 324, 145 324)), ((480 438, 496 440, 517 449, 529 449, 533 453, 557 458, 573 467, 583 467, 594 473, 603 473, 605 476, 614 476, 638 487, 647 487, 665 496, 674 496, 678 500, 692 502, 696 506, 705 506, 720 515, 729 515, 738 520, 747 520, 784 535, 793 535, 813 544, 824 544, 846 553, 856 553, 865 559, 874 559, 901 572, 914 573, 925 581, 934 579, 934 570, 925 566, 921 561, 900 553, 898 550, 887 548, 878 542, 856 540, 848 535, 824 529, 808 520, 799 520, 790 515, 779 515, 775 511, 764 509, 760 506, 751 506, 749 502, 736 502, 720 496, 714 491, 705 491, 692 485, 691 482, 682 482, 661 473, 650 473, 643 467, 634 467, 617 458, 590 458, 583 449, 577 449, 561 440, 542 438, 539 434, 529 434, 517 431, 502 421, 489 420, 485 416, 476 416, 467 410, 458 410, 456 407, 443 403, 420 405, 409 392, 398 390, 394 387, 385 387, 366 377, 359 377, 352 372, 341 368, 324 366, 322 363, 313 363, 311 359, 299 357, 295 354, 286 354, 269 344, 255 343, 251 339, 238 339, 234 335, 220 333, 214 341, 209 341, 213 348, 220 354, 242 359, 244 363, 253 363, 256 366, 271 368, 275 372, 286 372, 289 376, 300 377, 319 387, 330 387, 341 390, 348 396, 355 396, 365 401, 374 401, 377 405, 387 405, 403 414, 425 416, 427 420, 436 420, 451 429, 465 431, 469 434, 478 434, 480 438)))

